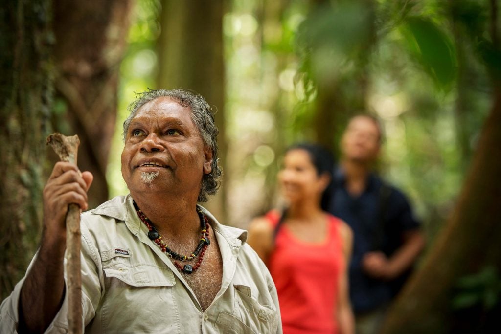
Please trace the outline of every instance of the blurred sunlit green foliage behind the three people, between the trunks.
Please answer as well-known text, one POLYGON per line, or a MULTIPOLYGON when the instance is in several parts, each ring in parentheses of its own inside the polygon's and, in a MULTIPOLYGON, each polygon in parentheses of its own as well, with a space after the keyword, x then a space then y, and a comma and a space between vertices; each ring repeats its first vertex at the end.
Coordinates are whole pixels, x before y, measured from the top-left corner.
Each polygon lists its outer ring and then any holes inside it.
MULTIPOLYGON (((280 202, 285 148, 313 140, 318 89, 335 95, 337 140, 349 114, 381 119, 380 172, 409 195, 432 239, 455 203, 490 107, 501 57, 485 36, 486 1, 231 1, 223 19, 227 210, 240 227, 280 202), (494 69, 485 70, 484 64, 494 69), (246 205, 241 205, 246 203, 246 205)), ((154 88, 158 0, 136 2, 121 66, 120 114, 154 88)), ((187 46, 189 48, 189 46, 187 46)), ((210 50, 208 50, 210 52, 210 50)), ((216 115, 217 117, 217 115, 216 115)), ((118 133, 120 132, 120 133, 118 133)), ((108 172, 121 180, 117 130, 108 172)))

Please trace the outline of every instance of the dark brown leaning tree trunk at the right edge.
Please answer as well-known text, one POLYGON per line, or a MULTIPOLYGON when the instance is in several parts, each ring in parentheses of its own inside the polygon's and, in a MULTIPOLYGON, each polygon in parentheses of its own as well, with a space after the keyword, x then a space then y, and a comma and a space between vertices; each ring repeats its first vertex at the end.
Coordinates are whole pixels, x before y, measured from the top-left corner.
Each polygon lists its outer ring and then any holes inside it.
MULTIPOLYGON (((381 332, 447 332, 458 277, 501 269, 501 88, 485 121, 457 205, 422 267, 392 306, 381 332)), ((472 319, 479 321, 479 319, 472 319)))

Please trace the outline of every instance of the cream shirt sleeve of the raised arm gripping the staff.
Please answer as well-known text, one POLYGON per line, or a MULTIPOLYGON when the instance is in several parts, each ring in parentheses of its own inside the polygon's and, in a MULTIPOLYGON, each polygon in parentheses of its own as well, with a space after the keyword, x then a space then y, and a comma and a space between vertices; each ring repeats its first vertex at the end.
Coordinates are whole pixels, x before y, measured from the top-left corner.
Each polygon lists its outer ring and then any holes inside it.
MULTIPOLYGON (((83 226, 83 224, 81 225, 83 226)), ((37 254, 32 259, 28 266, 25 277, 16 284, 14 291, 7 297, 0 306, 0 332, 1 333, 17 333, 19 324, 19 300, 21 297, 21 288, 26 279, 26 276, 33 268, 33 263, 37 258, 37 254)), ((95 315, 95 309, 99 304, 101 296, 100 275, 96 257, 97 253, 93 251, 93 247, 87 242, 82 235, 82 252, 80 256, 81 272, 82 272, 82 316, 83 325, 85 327, 95 315)), ((66 273, 66 257, 65 257, 65 296, 63 304, 59 312, 49 324, 45 333, 67 333, 68 332, 68 285, 66 273)), ((82 332, 83 332, 82 328, 82 332)))

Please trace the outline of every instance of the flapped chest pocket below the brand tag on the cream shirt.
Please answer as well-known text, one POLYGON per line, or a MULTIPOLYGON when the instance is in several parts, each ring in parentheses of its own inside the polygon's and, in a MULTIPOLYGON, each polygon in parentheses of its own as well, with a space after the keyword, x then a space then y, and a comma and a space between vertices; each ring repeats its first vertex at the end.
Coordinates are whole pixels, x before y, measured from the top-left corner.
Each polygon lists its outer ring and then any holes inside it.
POLYGON ((103 266, 102 330, 149 332, 147 319, 162 319, 162 332, 180 332, 175 278, 168 267, 113 261, 103 266))

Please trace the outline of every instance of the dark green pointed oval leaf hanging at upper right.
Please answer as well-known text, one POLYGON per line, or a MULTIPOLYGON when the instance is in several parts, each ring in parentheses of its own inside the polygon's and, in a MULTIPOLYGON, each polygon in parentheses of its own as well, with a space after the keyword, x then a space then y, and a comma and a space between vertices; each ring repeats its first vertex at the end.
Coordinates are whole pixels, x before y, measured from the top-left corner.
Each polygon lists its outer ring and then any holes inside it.
POLYGON ((437 84, 449 86, 456 75, 455 51, 440 28, 425 18, 409 17, 404 24, 403 35, 411 53, 437 84))

